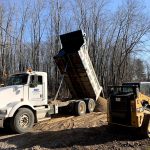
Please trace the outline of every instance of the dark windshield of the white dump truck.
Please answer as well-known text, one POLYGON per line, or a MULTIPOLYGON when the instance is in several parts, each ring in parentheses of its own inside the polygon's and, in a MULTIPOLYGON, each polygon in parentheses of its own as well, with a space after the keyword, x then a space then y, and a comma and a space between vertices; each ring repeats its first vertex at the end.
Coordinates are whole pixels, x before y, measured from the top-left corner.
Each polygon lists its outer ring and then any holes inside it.
POLYGON ((28 74, 17 74, 12 75, 8 78, 6 85, 24 85, 27 84, 28 81, 28 74))

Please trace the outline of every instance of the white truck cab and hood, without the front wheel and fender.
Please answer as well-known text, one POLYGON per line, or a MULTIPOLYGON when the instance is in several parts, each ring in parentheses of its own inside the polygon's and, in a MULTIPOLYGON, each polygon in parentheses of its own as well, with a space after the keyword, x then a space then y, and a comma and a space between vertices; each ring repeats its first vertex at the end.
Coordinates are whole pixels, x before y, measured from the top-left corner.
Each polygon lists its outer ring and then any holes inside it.
POLYGON ((27 71, 11 75, 5 86, 0 88, 0 99, 5 99, 0 107, 9 102, 23 101, 33 106, 47 104, 47 73, 27 71))

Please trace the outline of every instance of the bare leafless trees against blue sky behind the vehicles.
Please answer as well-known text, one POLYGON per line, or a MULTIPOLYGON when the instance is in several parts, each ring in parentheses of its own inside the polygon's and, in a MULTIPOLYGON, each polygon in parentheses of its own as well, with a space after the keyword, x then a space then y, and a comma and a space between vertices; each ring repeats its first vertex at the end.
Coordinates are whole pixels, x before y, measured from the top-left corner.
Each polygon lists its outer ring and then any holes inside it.
MULTIPOLYGON (((59 35, 82 29, 100 84, 149 81, 144 56, 150 17, 138 0, 125 0, 113 10, 108 0, 22 0, 0 5, 0 77, 33 70, 48 73, 54 96, 60 73, 53 56, 61 49, 59 35)), ((63 85, 60 95, 69 93, 63 85)))

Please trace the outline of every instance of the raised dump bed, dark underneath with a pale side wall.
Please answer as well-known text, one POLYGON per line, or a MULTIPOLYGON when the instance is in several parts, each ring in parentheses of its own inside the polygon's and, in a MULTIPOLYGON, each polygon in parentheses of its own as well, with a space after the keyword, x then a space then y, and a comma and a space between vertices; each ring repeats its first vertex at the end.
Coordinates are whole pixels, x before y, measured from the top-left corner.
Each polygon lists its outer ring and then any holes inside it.
POLYGON ((54 59, 61 74, 64 74, 72 98, 97 100, 102 87, 88 54, 85 34, 78 30, 63 34, 60 39, 62 49, 54 59))

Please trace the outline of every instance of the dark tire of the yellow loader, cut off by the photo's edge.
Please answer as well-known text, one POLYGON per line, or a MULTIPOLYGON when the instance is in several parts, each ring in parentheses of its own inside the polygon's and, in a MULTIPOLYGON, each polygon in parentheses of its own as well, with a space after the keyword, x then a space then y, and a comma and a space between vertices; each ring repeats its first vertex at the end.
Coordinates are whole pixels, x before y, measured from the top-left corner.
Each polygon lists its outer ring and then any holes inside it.
POLYGON ((150 138, 150 114, 144 115, 141 133, 145 138, 150 138))

